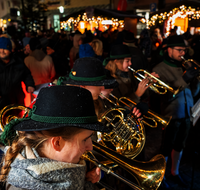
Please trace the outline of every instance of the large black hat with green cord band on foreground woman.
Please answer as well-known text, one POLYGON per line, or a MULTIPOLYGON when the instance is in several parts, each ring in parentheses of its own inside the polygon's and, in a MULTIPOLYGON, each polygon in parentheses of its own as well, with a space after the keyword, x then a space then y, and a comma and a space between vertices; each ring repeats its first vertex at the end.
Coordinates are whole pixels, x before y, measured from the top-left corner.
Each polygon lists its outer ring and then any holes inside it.
POLYGON ((97 120, 90 91, 76 86, 50 86, 40 90, 28 118, 13 128, 41 131, 72 126, 101 132, 109 130, 97 120))

